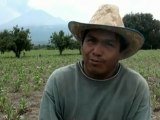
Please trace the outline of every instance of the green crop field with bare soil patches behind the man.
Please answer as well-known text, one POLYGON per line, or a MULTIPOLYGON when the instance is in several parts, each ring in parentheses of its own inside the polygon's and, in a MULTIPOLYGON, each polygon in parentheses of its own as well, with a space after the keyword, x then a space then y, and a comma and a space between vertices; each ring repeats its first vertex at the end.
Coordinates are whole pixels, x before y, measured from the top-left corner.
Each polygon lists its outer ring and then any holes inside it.
MULTIPOLYGON (((37 120, 40 99, 49 75, 81 59, 78 50, 32 50, 15 58, 0 54, 0 120, 37 120)), ((120 61, 146 78, 151 93, 152 118, 160 120, 160 50, 141 50, 120 61)))

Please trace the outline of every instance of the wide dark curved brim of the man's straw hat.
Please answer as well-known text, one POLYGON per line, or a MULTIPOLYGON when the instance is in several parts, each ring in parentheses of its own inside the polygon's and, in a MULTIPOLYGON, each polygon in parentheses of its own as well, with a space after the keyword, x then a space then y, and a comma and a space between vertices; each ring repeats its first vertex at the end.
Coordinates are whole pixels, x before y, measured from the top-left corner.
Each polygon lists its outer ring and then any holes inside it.
POLYGON ((79 41, 82 41, 84 32, 90 29, 104 29, 121 35, 125 39, 127 47, 121 52, 121 57, 119 59, 125 59, 132 56, 142 47, 144 43, 144 37, 140 32, 125 27, 86 24, 71 21, 68 23, 68 28, 70 32, 74 35, 74 37, 79 41))

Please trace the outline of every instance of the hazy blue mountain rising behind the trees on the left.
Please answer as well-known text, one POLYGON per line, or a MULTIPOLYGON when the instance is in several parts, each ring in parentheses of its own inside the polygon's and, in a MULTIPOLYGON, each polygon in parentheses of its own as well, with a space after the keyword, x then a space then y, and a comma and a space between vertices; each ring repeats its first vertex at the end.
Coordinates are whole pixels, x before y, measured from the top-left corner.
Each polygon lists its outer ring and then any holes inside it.
POLYGON ((33 44, 47 44, 53 32, 63 30, 65 33, 69 33, 66 21, 42 10, 31 10, 1 25, 0 30, 12 29, 16 25, 30 29, 33 44))

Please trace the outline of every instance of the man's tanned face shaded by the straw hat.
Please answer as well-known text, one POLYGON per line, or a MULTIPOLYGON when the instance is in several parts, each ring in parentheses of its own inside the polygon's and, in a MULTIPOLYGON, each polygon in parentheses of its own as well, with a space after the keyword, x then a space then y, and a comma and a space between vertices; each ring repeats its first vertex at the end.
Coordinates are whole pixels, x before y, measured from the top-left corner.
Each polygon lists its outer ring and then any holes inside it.
POLYGON ((89 31, 82 44, 84 71, 90 77, 110 77, 120 57, 120 43, 115 33, 104 30, 89 31))

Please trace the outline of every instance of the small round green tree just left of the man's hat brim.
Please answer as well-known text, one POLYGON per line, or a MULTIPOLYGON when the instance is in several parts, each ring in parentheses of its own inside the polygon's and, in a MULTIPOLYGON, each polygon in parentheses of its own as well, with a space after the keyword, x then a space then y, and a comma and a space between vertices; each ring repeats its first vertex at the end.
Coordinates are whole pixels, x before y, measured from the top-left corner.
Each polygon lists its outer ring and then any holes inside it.
POLYGON ((59 54, 62 55, 62 52, 68 48, 71 38, 72 35, 65 35, 64 32, 60 30, 59 33, 52 33, 49 43, 55 45, 55 47, 59 50, 59 54))

